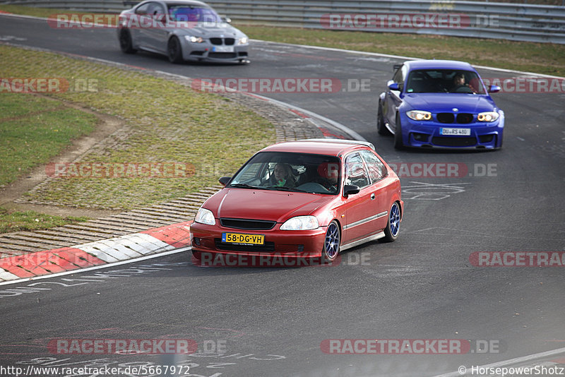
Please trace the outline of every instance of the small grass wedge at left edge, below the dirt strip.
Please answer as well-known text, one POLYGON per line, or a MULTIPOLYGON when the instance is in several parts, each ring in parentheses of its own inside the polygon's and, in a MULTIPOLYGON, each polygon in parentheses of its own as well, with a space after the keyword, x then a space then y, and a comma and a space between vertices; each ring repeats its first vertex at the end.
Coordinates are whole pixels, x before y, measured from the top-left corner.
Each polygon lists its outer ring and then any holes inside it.
POLYGON ((87 220, 86 217, 49 216, 35 211, 22 212, 0 208, 0 233, 49 229, 87 220))

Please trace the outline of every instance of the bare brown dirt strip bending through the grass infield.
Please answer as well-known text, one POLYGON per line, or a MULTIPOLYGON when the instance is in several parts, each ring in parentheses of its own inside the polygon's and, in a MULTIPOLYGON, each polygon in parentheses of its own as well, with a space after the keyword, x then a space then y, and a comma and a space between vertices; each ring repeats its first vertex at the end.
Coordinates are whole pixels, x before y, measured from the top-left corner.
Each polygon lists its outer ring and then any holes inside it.
MULTIPOLYGON (((78 157, 84 155, 85 152, 90 150, 90 148, 93 148, 94 145, 107 138, 107 136, 124 127, 125 122, 114 116, 101 114, 93 111, 92 109, 87 109, 85 107, 79 106, 78 104, 73 104, 65 100, 54 99, 53 97, 41 94, 35 95, 37 95, 38 97, 48 98, 49 100, 57 100, 58 102, 61 102, 61 109, 64 107, 71 107, 82 112, 93 114, 98 119, 95 131, 90 133, 88 136, 83 136, 81 138, 73 140, 73 143, 68 148, 66 148, 64 152, 62 152, 57 157, 54 157, 51 161, 49 161, 49 163, 73 162, 78 157)), ((120 212, 119 210, 93 210, 90 208, 57 207, 53 205, 14 203, 14 201, 20 198, 23 193, 30 191, 32 188, 47 179, 47 174, 45 172, 46 166, 47 164, 37 166, 33 168, 28 174, 25 174, 18 178, 15 182, 0 188, 0 205, 4 206, 4 208, 9 209, 35 210, 37 212, 46 213, 47 215, 59 216, 102 217, 120 212)))

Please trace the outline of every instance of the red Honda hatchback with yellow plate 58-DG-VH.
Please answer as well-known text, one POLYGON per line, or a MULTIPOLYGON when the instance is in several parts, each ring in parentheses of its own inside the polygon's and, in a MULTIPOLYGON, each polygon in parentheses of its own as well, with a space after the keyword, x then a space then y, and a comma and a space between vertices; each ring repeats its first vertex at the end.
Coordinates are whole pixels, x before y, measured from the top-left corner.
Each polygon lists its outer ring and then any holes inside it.
POLYGON ((207 253, 331 262, 363 242, 394 241, 404 212, 400 179, 374 145, 357 140, 271 145, 220 183, 190 228, 198 260, 207 253))

